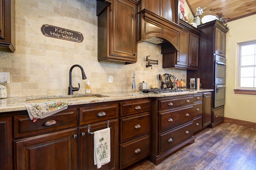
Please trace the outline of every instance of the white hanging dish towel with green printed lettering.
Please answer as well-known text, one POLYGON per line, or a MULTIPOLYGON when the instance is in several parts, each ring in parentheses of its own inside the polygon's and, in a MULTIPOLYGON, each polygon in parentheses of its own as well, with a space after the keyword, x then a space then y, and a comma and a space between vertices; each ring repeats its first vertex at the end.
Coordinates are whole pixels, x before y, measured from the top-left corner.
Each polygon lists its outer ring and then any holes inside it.
POLYGON ((94 165, 101 168, 110 162, 110 128, 94 132, 94 165))

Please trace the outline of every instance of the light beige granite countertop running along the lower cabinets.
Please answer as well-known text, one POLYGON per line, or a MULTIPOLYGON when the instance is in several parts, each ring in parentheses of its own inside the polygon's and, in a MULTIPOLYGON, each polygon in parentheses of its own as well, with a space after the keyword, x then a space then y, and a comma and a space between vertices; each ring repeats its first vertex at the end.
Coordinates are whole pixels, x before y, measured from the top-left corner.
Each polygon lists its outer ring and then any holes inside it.
POLYGON ((31 102, 38 102, 41 100, 52 98, 56 100, 60 100, 64 98, 68 103, 68 106, 79 105, 79 104, 91 104, 91 103, 100 103, 100 102, 111 102, 118 100, 128 100, 128 99, 138 99, 138 98, 148 98, 148 97, 167 97, 167 96, 178 96, 183 94, 195 94, 198 92, 210 92, 213 90, 210 89, 202 89, 199 91, 187 89, 186 92, 175 92, 175 93, 163 93, 163 94, 155 94, 155 93, 143 93, 143 92, 109 92, 109 93, 100 93, 100 94, 89 94, 92 96, 90 98, 83 96, 88 96, 87 94, 74 94, 74 95, 59 95, 59 96, 33 96, 33 97, 10 97, 5 99, 0 99, 0 114, 4 112, 10 111, 22 111, 26 110, 24 103, 28 100, 32 100, 31 102), (96 96, 94 96, 96 95, 96 96), (94 96, 94 97, 93 97, 94 96), (70 98, 70 99, 68 99, 70 98), (33 101, 34 100, 34 101, 33 101))

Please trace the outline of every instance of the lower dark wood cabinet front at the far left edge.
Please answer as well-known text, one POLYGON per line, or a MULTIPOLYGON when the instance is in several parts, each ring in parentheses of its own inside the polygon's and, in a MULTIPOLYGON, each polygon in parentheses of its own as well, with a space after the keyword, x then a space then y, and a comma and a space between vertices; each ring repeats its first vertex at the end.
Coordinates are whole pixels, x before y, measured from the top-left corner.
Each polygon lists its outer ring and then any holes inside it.
POLYGON ((0 118, 1 170, 12 170, 12 117, 0 118))

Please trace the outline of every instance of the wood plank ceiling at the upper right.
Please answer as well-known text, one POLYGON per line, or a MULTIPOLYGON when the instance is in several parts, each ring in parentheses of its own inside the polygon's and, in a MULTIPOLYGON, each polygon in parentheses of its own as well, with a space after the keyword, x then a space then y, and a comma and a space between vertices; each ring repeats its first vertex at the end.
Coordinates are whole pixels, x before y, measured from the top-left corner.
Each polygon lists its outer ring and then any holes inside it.
POLYGON ((256 0, 186 0, 186 2, 194 16, 196 7, 206 7, 200 18, 222 13, 223 18, 233 21, 256 14, 256 0))

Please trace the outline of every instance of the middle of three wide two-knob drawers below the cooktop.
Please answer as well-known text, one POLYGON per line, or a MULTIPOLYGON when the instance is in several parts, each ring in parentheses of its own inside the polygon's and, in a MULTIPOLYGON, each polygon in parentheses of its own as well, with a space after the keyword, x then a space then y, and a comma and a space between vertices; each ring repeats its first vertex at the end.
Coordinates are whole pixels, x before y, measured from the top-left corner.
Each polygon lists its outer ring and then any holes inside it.
POLYGON ((178 107, 171 111, 160 112, 159 132, 166 131, 182 123, 193 120, 193 105, 178 107))

